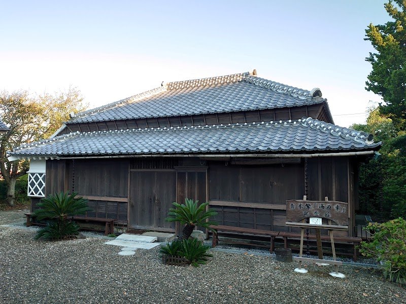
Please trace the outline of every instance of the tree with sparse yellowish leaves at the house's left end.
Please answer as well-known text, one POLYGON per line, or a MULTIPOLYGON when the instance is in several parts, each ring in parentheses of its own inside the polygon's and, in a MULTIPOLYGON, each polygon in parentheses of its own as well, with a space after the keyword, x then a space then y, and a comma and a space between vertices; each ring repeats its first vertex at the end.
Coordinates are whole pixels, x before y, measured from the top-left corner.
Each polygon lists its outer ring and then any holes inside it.
POLYGON ((17 178, 29 169, 29 162, 7 159, 7 151, 23 143, 51 136, 69 119, 69 113, 83 111, 80 91, 70 88, 67 92, 30 97, 26 91, 9 94, 0 92, 0 120, 9 128, 0 134, 0 173, 7 183, 7 202, 14 205, 17 178))

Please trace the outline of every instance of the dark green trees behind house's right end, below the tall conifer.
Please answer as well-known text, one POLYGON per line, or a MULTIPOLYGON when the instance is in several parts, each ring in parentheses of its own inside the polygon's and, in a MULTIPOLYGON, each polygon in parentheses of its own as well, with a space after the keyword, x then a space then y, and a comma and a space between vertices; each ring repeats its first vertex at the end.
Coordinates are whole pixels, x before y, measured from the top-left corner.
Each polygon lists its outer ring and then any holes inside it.
POLYGON ((378 221, 406 218, 406 134, 396 133, 392 120, 380 110, 369 108, 366 124, 351 126, 384 143, 380 160, 371 159, 360 166, 360 211, 375 215, 378 221))

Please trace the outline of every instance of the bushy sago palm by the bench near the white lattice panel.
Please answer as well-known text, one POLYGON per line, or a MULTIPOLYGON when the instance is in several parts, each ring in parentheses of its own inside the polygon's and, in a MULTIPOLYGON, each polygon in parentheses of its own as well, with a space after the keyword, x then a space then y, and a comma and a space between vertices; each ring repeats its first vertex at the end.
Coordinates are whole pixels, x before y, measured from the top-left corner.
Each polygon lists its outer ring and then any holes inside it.
POLYGON ((66 235, 78 234, 79 226, 68 221, 68 217, 76 214, 84 214, 91 210, 87 206, 87 199, 76 198, 78 193, 61 192, 49 195, 37 204, 39 209, 32 213, 39 220, 49 218, 50 223, 36 235, 36 239, 61 239, 66 235))

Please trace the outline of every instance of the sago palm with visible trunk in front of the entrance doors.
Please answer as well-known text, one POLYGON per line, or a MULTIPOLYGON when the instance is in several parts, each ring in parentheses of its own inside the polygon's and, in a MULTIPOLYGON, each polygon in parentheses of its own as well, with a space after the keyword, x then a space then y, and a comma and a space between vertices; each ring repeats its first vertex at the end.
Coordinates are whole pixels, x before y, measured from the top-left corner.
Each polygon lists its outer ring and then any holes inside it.
POLYGON ((185 199, 185 204, 182 205, 174 202, 172 205, 176 208, 169 209, 169 217, 165 218, 168 222, 178 221, 186 225, 178 238, 178 241, 181 243, 183 240, 189 239, 195 226, 204 227, 213 231, 214 229, 212 229, 211 225, 217 225, 217 222, 206 221, 209 217, 215 216, 217 212, 211 209, 206 211, 206 206, 209 203, 206 202, 197 206, 198 202, 198 200, 194 202, 189 199, 185 199))

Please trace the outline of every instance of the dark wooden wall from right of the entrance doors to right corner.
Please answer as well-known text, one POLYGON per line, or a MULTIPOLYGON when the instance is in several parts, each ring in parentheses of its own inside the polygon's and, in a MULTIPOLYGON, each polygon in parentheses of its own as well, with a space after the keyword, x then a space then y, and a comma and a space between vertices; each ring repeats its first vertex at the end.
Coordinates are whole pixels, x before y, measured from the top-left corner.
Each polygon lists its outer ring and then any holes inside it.
POLYGON ((209 162, 210 208, 223 225, 298 232, 287 227, 286 200, 336 200, 349 203, 353 235, 357 162, 347 157, 302 159, 300 164, 239 166, 209 162))

